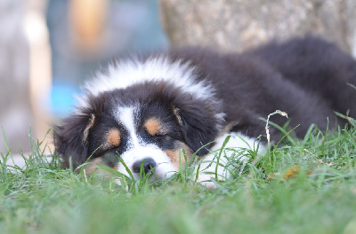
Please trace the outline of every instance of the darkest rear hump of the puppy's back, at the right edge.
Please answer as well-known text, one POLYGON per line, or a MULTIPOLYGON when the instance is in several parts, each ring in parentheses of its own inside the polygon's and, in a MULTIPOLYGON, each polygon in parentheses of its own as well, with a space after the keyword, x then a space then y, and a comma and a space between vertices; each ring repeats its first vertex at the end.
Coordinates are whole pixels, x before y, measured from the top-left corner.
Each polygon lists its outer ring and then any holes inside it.
POLYGON ((269 63, 283 77, 328 102, 339 113, 356 117, 356 61, 336 44, 307 36, 287 43, 269 43, 249 52, 269 63))

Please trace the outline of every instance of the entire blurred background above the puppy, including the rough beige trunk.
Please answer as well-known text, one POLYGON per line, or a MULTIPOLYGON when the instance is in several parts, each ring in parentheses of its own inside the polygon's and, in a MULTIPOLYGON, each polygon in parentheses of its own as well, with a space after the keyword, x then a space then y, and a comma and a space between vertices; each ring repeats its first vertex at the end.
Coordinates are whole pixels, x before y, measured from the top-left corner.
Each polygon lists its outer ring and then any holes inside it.
POLYGON ((353 0, 1 0, 0 152, 29 152, 29 136, 51 145, 53 122, 112 58, 306 34, 356 55, 355 30, 353 0))

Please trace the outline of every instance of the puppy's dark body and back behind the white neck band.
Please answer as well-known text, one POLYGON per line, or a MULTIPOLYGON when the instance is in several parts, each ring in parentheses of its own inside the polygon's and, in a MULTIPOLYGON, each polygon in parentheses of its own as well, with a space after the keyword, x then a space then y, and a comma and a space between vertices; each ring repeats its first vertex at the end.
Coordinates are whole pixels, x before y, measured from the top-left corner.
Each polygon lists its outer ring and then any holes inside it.
MULTIPOLYGON (((287 43, 268 43, 253 51, 239 54, 216 54, 212 51, 187 49, 171 52, 175 59, 184 58, 198 67, 198 77, 208 79, 223 99, 225 120, 231 131, 259 136, 267 118, 276 110, 287 112, 290 127, 303 137, 314 123, 320 129, 332 129, 334 111, 355 117, 355 60, 319 38, 308 36, 287 43)), ((280 126, 286 119, 273 116, 280 126)), ((337 120, 344 125, 344 119, 337 120)), ((272 139, 279 138, 271 130, 272 139)))

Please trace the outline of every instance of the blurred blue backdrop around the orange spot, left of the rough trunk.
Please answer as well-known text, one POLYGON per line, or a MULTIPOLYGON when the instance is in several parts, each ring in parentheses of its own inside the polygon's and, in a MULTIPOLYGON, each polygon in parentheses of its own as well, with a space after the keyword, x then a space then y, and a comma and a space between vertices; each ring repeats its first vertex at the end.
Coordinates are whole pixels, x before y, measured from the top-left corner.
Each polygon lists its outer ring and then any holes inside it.
POLYGON ((50 0, 46 14, 53 64, 50 106, 55 117, 73 111, 78 87, 93 78, 99 68, 106 67, 112 58, 160 51, 169 45, 160 26, 157 0, 108 0, 102 33, 105 43, 93 54, 82 54, 70 33, 69 3, 69 0, 50 0))

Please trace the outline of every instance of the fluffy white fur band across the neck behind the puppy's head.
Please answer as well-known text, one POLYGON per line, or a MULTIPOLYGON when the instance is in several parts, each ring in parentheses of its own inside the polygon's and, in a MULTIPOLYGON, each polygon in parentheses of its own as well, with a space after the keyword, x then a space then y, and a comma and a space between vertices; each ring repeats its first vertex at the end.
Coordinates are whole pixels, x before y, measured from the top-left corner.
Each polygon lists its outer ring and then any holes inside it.
MULTIPOLYGON (((86 82, 85 90, 97 96, 101 92, 125 89, 135 83, 165 81, 182 88, 182 91, 195 98, 211 98, 214 96, 213 86, 206 81, 197 82, 195 70, 195 66, 191 66, 189 62, 172 62, 163 55, 145 61, 121 60, 117 65, 109 66, 106 73, 99 73, 95 79, 86 82)), ((86 106, 85 99, 78 98, 78 101, 86 106)))

